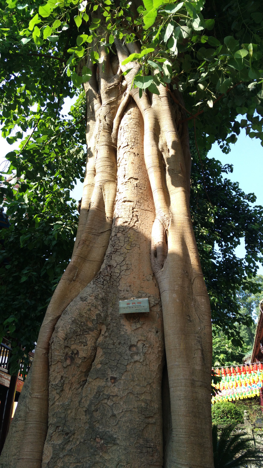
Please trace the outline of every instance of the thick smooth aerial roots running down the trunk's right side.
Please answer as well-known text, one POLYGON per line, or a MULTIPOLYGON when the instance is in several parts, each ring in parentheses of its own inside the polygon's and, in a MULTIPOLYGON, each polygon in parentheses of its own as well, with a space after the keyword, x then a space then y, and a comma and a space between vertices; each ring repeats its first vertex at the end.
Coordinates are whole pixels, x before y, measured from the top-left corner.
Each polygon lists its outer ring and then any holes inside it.
MULTIPOLYGON (((116 48, 122 63, 128 53, 118 40, 116 48)), ((123 72, 128 66, 121 65, 123 72)), ((211 376, 207 373, 212 366, 211 313, 189 208, 189 137, 182 128, 183 151, 167 89, 159 85, 159 95, 149 99, 142 91, 140 98, 138 88, 132 86, 137 71, 134 65, 126 80, 142 112, 144 158, 156 209, 151 260, 162 300, 173 427, 167 466, 212 468, 211 376), (200 279, 197 287, 192 284, 195 278, 200 279), (192 395, 198 398, 198 408, 192 395), (193 437, 189 428, 196 419, 206 423, 193 437)))

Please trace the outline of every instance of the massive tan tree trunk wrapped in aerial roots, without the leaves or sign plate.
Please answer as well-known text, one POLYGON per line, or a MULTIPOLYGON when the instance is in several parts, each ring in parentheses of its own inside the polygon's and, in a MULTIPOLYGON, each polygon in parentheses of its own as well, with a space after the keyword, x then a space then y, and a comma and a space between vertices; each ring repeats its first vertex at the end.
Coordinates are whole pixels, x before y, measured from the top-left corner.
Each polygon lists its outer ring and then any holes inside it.
MULTIPOLYGON (((116 41, 120 63, 128 47, 116 41)), ((167 89, 139 97, 136 67, 125 84, 105 56, 85 86, 77 240, 1 468, 213 467, 211 315, 189 210, 188 131, 167 89), (149 314, 119 314, 132 297, 148 297, 149 314)))

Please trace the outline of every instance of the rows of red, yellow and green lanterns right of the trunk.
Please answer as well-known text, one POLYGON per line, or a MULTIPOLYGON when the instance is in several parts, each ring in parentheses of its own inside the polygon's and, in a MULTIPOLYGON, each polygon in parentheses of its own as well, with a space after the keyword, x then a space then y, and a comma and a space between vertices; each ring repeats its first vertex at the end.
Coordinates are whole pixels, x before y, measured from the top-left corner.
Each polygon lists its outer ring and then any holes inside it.
POLYGON ((216 395, 212 397, 212 404, 260 395, 260 388, 263 387, 263 366, 261 362, 249 366, 231 366, 230 369, 228 367, 217 367, 214 373, 221 377, 221 381, 213 384, 220 392, 216 392, 216 395))

